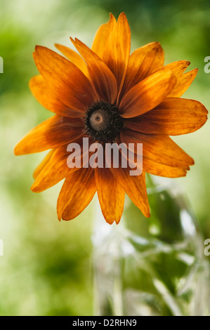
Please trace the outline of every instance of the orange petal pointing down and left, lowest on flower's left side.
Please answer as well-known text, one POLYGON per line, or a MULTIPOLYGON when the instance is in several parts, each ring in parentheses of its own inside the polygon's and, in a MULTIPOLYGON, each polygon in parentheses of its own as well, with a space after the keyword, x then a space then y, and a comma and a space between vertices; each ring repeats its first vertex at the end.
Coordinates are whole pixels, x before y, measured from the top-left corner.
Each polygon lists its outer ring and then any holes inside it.
POLYGON ((58 220, 72 220, 78 216, 91 202, 95 193, 93 169, 79 169, 67 176, 58 197, 58 220))

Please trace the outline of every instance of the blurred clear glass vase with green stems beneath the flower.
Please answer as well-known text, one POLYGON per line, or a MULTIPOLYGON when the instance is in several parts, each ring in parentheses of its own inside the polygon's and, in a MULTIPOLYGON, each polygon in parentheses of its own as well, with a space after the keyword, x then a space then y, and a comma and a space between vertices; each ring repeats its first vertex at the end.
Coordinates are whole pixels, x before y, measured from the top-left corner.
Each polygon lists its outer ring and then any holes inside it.
POLYGON ((147 176, 151 217, 126 198, 119 225, 96 206, 95 315, 209 315, 209 263, 190 203, 173 180, 147 176))

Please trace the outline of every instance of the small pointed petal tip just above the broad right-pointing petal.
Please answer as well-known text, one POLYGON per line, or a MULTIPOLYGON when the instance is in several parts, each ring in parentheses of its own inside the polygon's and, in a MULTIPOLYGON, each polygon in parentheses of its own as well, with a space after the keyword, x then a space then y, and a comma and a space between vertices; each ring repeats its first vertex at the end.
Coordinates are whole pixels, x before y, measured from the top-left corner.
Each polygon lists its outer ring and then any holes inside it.
POLYGON ((197 75, 197 69, 191 70, 190 72, 186 72, 181 77, 179 77, 176 81, 176 85, 169 93, 169 98, 180 98, 185 91, 190 87, 192 81, 195 79, 197 75))

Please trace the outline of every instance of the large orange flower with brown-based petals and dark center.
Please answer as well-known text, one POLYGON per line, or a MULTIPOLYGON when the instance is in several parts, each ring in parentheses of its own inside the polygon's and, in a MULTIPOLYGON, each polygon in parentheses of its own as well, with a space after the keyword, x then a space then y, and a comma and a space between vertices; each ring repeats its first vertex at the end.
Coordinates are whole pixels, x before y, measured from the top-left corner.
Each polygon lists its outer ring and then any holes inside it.
POLYGON ((191 133, 207 119, 207 110, 181 95, 197 69, 184 73, 186 60, 164 65, 157 42, 130 55, 131 33, 126 15, 103 24, 92 48, 71 39, 80 55, 55 44, 65 55, 37 46, 34 61, 40 75, 29 86, 35 98, 55 115, 32 129, 15 147, 15 154, 51 149, 34 171, 32 191, 41 192, 65 178, 58 197, 58 219, 76 217, 98 192, 107 223, 119 223, 125 192, 146 217, 150 216, 145 172, 176 178, 194 164, 169 136, 191 133), (143 143, 143 173, 130 176, 129 168, 67 166, 69 143, 143 143))

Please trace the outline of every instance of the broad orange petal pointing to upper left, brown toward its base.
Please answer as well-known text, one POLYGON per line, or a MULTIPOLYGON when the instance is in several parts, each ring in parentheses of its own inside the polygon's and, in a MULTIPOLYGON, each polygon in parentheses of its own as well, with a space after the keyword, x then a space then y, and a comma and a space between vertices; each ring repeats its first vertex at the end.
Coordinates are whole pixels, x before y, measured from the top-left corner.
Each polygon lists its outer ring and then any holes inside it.
POLYGON ((63 56, 46 47, 36 46, 34 61, 48 86, 65 105, 84 112, 98 100, 91 81, 63 56))

